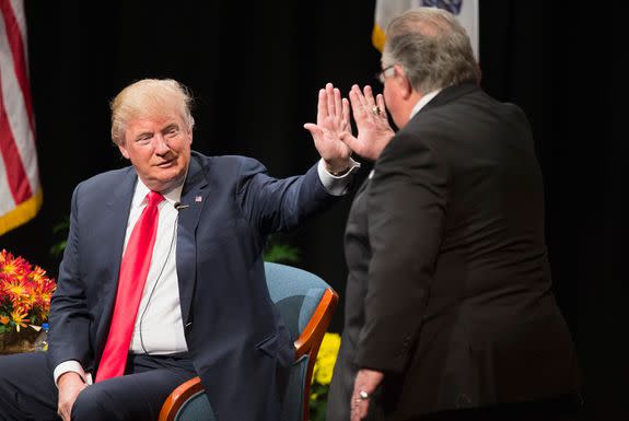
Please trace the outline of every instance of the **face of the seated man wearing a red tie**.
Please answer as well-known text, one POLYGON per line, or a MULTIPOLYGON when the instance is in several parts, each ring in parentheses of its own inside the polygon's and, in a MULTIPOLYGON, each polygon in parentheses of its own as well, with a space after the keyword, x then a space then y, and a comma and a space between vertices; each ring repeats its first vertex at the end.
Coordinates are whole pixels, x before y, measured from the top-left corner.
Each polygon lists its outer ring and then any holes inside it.
POLYGON ((190 162, 193 131, 176 114, 139 117, 128 121, 118 148, 138 176, 153 191, 183 183, 190 162))

